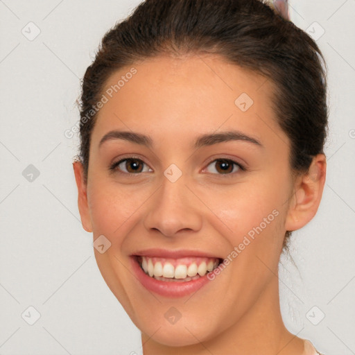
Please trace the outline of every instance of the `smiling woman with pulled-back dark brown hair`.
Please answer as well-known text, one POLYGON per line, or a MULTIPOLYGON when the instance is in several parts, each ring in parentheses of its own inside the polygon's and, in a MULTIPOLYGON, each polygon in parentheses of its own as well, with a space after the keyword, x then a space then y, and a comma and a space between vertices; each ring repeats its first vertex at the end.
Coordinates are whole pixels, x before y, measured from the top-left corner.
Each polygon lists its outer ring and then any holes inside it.
POLYGON ((110 97, 80 125, 78 207, 144 355, 317 354, 275 275, 322 198, 326 76, 272 5, 146 0, 85 73, 81 118, 110 97))

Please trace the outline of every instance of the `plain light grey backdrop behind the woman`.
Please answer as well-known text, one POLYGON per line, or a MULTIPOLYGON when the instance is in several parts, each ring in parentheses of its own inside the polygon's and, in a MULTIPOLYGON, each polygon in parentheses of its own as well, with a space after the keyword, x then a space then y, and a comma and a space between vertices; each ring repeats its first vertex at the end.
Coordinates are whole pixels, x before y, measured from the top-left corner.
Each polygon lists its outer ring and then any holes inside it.
MULTIPOLYGON (((104 33, 140 1, 0 0, 0 354, 141 354, 83 230, 72 161, 80 78, 104 33), (30 307, 30 308, 29 308, 30 307), (33 323, 31 325, 31 323, 33 323)), ((279 270, 290 331, 355 354, 355 1, 291 1, 328 65, 327 182, 279 270)))

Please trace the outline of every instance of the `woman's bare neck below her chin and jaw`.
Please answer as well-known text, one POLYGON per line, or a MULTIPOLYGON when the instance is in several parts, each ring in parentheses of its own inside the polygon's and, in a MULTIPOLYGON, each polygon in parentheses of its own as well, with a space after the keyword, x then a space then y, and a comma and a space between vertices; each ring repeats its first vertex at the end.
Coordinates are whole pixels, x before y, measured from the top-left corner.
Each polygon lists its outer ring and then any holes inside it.
POLYGON ((209 340, 198 342, 196 339, 194 345, 168 347, 155 342, 154 336, 150 338, 142 334, 144 355, 303 354, 303 340, 291 334, 282 321, 278 282, 277 277, 273 277, 257 301, 238 322, 209 340))

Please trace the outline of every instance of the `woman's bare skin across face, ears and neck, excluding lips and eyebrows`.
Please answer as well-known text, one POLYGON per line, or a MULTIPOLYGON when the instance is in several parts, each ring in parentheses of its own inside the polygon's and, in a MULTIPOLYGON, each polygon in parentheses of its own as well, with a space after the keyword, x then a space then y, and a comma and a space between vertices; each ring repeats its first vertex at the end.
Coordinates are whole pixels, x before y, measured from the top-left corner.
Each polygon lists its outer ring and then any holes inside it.
MULTIPOLYGON (((285 232, 300 229, 318 210, 324 155, 313 158, 309 173, 292 175, 289 139, 270 105, 272 82, 257 73, 212 55, 161 56, 132 67, 135 76, 98 112, 87 184, 82 164, 73 169, 84 229, 112 243, 103 254, 94 250, 98 268, 141 330, 144 354, 302 354, 303 340, 282 322, 276 275, 285 232), (234 104, 241 93, 254 101, 246 112, 234 104), (114 129, 149 135, 153 148, 122 139, 99 148, 114 129), (262 147, 223 141, 192 148, 203 133, 225 130, 240 130, 262 147), (129 176, 128 164, 120 165, 121 174, 110 172, 130 154, 143 161, 143 172, 129 176), (247 171, 231 167, 227 178, 216 161, 223 157, 247 171), (171 164, 182 171, 174 183, 164 176, 171 164), (132 275, 129 256, 146 248, 227 257, 275 209, 278 216, 192 297, 153 294, 132 275), (164 317, 171 306, 181 313, 175 324, 164 317)), ((116 71, 105 88, 130 68, 116 71)))

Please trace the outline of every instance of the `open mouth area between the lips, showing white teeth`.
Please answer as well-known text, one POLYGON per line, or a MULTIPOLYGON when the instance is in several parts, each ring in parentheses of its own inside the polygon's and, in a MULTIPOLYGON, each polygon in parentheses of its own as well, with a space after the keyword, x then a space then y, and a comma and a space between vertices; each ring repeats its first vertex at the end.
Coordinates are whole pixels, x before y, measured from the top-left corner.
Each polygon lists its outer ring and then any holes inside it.
POLYGON ((217 257, 173 259, 135 255, 134 259, 148 277, 160 282, 191 282, 207 276, 223 262, 217 257))

